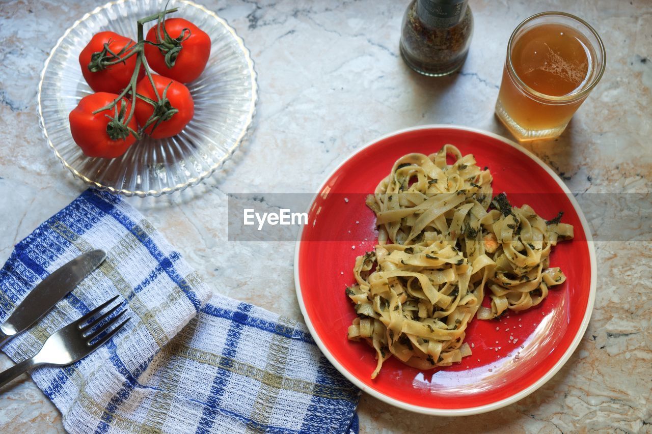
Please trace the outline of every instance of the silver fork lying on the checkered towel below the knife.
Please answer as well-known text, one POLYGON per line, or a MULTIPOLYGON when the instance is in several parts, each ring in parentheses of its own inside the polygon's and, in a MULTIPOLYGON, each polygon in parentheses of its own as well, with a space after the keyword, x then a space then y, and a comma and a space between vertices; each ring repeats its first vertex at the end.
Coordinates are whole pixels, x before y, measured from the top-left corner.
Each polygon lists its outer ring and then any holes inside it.
POLYGON ((119 296, 115 296, 105 303, 100 304, 95 309, 91 310, 86 315, 83 315, 77 321, 73 321, 67 326, 57 330, 43 343, 43 346, 37 354, 23 360, 22 362, 12 366, 0 373, 0 387, 12 381, 22 373, 31 371, 42 365, 65 366, 74 363, 88 354, 92 353, 106 341, 110 340, 118 330, 123 328, 130 318, 125 319, 117 325, 113 330, 107 332, 109 327, 125 313, 126 310, 121 311, 106 323, 101 324, 102 321, 107 319, 112 313, 118 310, 121 304, 118 304, 108 312, 104 313, 98 318, 94 318, 102 309, 117 300, 119 296), (103 334, 106 332, 105 334, 103 334), (100 336, 102 335, 102 336, 100 336))

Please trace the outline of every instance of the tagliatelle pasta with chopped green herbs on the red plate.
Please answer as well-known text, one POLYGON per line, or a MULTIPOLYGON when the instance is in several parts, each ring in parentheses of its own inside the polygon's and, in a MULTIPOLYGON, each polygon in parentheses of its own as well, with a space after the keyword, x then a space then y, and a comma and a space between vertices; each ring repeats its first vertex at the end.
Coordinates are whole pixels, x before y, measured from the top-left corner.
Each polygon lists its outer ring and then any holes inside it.
POLYGON ((505 194, 492 199, 491 183, 472 154, 445 145, 399 158, 367 198, 378 245, 357 257, 346 293, 358 315, 348 338, 376 350, 372 378, 391 356, 420 369, 460 362, 471 354, 464 337, 474 316, 526 310, 565 281, 548 257, 572 225, 561 213, 546 222, 528 205, 512 207, 505 194), (481 306, 485 287, 491 308, 481 306))

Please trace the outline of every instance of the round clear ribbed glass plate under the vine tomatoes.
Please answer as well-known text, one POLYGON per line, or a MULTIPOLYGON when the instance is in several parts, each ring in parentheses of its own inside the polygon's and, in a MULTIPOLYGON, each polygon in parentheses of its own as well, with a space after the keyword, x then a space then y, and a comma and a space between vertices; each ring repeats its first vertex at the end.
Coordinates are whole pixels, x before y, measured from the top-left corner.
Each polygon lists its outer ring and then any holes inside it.
MULTIPOLYGON (((200 78, 187 84, 195 116, 177 136, 145 137, 119 158, 90 158, 72 139, 68 113, 91 88, 78 56, 98 31, 136 40, 136 20, 166 5, 156 0, 118 0, 75 22, 52 49, 38 85, 38 115, 54 154, 76 177, 115 194, 158 196, 184 190, 219 169, 243 141, 256 109, 256 72, 249 50, 214 12, 187 0, 170 0, 185 18, 211 36, 211 57, 200 78)), ((145 25, 145 32, 154 23, 145 25)))

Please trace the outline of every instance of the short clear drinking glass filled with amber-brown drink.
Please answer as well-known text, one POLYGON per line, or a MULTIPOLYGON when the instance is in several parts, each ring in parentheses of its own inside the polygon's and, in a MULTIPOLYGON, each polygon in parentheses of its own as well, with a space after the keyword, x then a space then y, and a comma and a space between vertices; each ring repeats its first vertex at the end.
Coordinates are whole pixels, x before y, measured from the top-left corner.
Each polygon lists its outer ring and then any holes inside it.
POLYGON ((597 32, 565 12, 542 12, 509 38, 496 115, 521 141, 559 136, 604 72, 597 32))

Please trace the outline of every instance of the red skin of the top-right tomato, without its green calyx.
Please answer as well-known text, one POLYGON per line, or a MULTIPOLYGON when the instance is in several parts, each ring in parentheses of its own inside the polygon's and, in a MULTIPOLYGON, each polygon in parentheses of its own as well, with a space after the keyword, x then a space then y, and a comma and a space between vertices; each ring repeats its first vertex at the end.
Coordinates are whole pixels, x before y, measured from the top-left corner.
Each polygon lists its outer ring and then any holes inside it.
MULTIPOLYGON (((190 83, 196 80, 206 68, 211 55, 211 37, 199 27, 183 18, 169 18, 164 21, 168 34, 172 38, 181 35, 183 29, 190 30, 190 36, 181 42, 181 51, 172 68, 165 63, 165 55, 153 45, 145 44, 145 57, 153 70, 181 83, 190 83)), ((161 38, 163 33, 161 32, 161 38)), ((156 25, 147 32, 147 40, 156 42, 156 25)))

